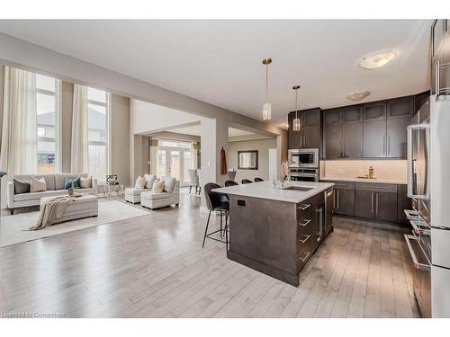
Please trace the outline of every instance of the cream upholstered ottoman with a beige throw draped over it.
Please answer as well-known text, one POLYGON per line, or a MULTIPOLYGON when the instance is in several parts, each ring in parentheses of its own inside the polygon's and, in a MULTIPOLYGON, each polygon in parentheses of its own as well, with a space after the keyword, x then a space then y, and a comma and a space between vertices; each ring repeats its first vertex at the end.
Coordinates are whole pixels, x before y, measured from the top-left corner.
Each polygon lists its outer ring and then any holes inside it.
MULTIPOLYGON (((40 208, 42 204, 47 200, 52 200, 55 197, 46 197, 40 199, 40 208)), ((86 194, 82 197, 76 198, 67 203, 66 211, 64 215, 58 218, 58 223, 76 220, 83 217, 98 217, 98 200, 97 197, 92 194, 86 194)))

